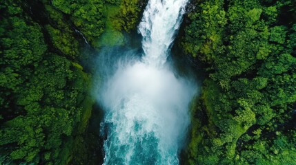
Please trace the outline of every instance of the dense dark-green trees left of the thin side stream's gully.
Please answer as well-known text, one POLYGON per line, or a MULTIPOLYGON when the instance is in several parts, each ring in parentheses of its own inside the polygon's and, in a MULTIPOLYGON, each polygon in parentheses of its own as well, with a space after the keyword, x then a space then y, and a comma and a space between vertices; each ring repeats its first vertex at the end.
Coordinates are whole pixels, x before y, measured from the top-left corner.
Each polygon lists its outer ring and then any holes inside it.
MULTIPOLYGON (((63 36, 61 29, 45 25, 50 41, 62 54, 51 52, 43 27, 19 3, 4 1, 0 5, 4 16, 0 24, 0 162, 64 164, 63 157, 71 155, 65 155, 71 147, 65 140, 75 134, 81 120, 85 122, 81 129, 85 129, 89 118, 83 114, 86 109, 89 113, 92 101, 88 106, 83 102, 91 100, 87 96, 90 77, 83 67, 61 56, 77 57, 77 41, 68 44, 75 40, 70 30, 64 29, 63 36)), ((61 19, 59 14, 51 14, 54 21, 61 19)), ((55 25, 64 27, 61 22, 55 25)))

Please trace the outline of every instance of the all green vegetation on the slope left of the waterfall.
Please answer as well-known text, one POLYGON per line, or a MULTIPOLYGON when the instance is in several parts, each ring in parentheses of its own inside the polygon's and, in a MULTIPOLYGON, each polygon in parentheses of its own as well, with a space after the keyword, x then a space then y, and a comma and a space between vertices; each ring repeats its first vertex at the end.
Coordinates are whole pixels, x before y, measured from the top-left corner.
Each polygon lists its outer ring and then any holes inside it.
POLYGON ((87 164, 79 147, 97 77, 81 65, 81 34, 99 48, 105 30, 129 32, 140 10, 139 1, 0 2, 0 164, 87 164), (108 5, 120 9, 120 28, 109 25, 108 5))

